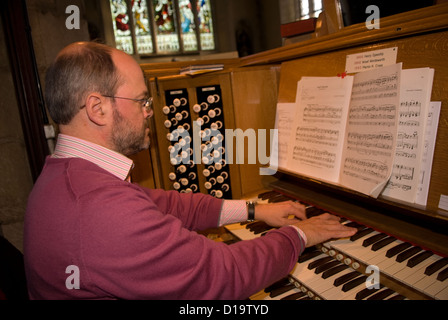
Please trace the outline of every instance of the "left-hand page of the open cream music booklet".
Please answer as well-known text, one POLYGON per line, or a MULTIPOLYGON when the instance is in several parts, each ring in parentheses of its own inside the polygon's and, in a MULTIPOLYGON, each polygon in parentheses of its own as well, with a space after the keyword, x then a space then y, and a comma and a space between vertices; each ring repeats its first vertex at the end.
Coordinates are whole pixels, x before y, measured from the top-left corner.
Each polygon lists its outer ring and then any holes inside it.
POLYGON ((303 77, 288 148, 288 168, 329 182, 339 180, 353 77, 303 77))

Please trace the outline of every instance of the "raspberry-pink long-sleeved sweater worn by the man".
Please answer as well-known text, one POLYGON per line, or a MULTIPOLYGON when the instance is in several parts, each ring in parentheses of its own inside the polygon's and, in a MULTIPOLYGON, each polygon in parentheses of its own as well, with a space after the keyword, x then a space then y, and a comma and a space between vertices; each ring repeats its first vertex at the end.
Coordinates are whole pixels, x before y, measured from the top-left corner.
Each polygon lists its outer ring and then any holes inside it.
POLYGON ((48 158, 31 192, 24 258, 32 299, 243 299, 286 276, 294 228, 226 245, 222 200, 145 189, 83 159, 48 158), (79 289, 67 286, 79 270, 79 289), (67 272, 67 273, 66 273, 67 272))

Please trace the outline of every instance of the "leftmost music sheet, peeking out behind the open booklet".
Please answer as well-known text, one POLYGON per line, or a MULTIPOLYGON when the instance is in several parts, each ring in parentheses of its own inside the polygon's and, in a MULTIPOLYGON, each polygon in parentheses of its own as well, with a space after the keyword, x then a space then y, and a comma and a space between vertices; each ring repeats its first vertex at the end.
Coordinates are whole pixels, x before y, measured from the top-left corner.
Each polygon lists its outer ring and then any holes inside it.
POLYGON ((275 115, 274 135, 277 135, 277 144, 272 144, 270 166, 275 168, 288 168, 288 146, 291 128, 296 113, 295 103, 278 103, 275 115))

